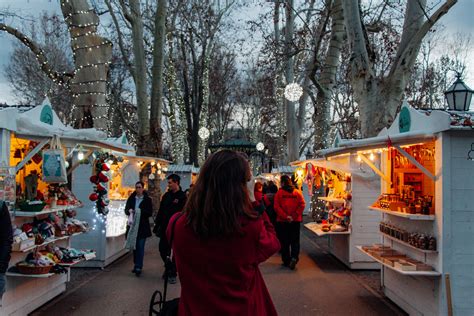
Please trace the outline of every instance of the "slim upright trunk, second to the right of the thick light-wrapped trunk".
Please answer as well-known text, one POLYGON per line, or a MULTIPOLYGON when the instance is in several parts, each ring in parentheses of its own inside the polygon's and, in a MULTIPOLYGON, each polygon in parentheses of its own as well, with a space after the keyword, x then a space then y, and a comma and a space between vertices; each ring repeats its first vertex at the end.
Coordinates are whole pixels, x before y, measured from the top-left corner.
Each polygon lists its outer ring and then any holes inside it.
POLYGON ((161 156, 163 134, 163 129, 161 128, 161 113, 163 111, 163 64, 165 56, 167 0, 158 0, 156 11, 150 108, 150 141, 155 144, 154 154, 161 156))

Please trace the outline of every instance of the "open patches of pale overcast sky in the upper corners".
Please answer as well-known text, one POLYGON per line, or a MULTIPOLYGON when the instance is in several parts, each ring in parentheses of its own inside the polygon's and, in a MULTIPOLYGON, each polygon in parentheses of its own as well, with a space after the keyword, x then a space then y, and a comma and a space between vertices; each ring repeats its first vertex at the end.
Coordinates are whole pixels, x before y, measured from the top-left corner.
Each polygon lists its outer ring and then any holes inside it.
MULTIPOLYGON (((255 3, 255 0, 252 0, 255 3)), ((441 0, 437 2, 443 2, 441 0)), ((58 0, 0 0, 0 10, 9 8, 19 16, 37 15, 41 11, 60 12, 58 0)), ((250 13, 250 12, 249 12, 250 13)), ((252 12, 254 15, 255 12, 252 12)), ((458 3, 441 19, 441 23, 446 26, 449 33, 463 32, 470 33, 474 41, 474 0, 458 0, 458 3)), ((247 16, 247 14, 244 14, 247 16)), ((2 21, 8 24, 14 24, 11 20, 2 21)), ((18 23, 18 22, 16 22, 18 23)), ((18 24, 16 24, 18 25, 18 24)), ((4 67, 8 63, 12 52, 12 43, 16 41, 11 35, 0 32, 0 102, 14 104, 15 99, 11 94, 11 89, 4 77, 4 67)), ((465 82, 474 88, 474 47, 471 49, 468 58, 468 73, 465 76, 465 82)))

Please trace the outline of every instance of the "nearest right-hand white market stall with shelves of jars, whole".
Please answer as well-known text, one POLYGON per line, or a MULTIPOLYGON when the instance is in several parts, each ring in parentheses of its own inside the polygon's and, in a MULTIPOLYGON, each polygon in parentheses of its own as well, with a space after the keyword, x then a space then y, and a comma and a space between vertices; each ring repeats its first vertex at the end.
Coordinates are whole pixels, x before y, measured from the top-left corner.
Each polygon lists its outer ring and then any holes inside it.
POLYGON ((385 294, 410 315, 473 315, 474 130, 469 112, 404 104, 377 137, 341 142, 327 157, 380 153, 380 243, 359 249, 382 265, 385 294))

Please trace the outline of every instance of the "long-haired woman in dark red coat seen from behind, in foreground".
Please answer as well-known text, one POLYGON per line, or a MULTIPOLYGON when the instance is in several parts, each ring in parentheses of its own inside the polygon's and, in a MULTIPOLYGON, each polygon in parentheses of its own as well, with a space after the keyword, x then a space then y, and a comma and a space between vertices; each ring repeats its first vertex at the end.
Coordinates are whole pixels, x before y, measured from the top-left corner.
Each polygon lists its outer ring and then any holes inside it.
POLYGON ((242 154, 212 154, 184 216, 171 219, 178 218, 172 245, 181 282, 178 315, 277 315, 258 265, 276 253, 280 243, 263 207, 255 202, 253 179, 247 189, 250 179, 242 154))

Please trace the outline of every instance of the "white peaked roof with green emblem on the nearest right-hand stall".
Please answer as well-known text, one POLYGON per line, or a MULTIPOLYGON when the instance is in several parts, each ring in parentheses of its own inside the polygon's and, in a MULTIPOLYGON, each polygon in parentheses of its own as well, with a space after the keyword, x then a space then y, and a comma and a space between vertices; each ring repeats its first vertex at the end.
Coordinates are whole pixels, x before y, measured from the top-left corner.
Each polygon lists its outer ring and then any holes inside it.
POLYGON ((320 157, 330 157, 357 150, 434 140, 436 134, 443 131, 472 130, 472 122, 473 112, 416 110, 404 102, 390 128, 384 128, 376 137, 342 139, 337 142, 337 147, 323 149, 316 154, 320 157))

